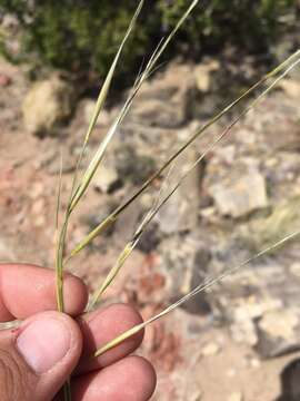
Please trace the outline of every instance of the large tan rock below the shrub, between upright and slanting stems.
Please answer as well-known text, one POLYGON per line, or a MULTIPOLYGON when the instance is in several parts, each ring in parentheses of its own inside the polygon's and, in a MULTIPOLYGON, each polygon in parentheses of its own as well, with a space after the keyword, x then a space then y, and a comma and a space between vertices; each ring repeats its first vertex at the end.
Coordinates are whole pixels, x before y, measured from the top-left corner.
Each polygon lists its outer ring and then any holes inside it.
POLYGON ((130 118, 151 126, 178 128, 190 116, 194 90, 192 68, 170 65, 166 71, 143 85, 130 118))

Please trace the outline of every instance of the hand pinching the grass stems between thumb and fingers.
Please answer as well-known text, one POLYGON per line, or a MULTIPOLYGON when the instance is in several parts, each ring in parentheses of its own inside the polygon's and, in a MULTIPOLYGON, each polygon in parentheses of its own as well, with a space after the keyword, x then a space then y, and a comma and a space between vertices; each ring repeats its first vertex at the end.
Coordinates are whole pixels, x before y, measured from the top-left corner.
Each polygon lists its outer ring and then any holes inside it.
POLYGON ((71 373, 73 401, 149 400, 153 368, 129 356, 142 333, 97 359, 92 355, 140 323, 140 315, 123 304, 81 315, 88 299, 84 284, 68 274, 63 291, 68 315, 54 312, 53 271, 0 265, 0 322, 22 320, 17 329, 0 331, 0 400, 62 400, 58 392, 71 373))

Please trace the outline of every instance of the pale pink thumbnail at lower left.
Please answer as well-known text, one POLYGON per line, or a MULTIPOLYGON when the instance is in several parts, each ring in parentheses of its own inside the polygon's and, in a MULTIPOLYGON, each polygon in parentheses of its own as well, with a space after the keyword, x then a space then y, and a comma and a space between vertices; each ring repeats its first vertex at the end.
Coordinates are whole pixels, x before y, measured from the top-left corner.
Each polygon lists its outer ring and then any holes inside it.
POLYGON ((17 346, 36 373, 56 366, 70 349, 71 336, 66 325, 54 319, 33 321, 17 339, 17 346))

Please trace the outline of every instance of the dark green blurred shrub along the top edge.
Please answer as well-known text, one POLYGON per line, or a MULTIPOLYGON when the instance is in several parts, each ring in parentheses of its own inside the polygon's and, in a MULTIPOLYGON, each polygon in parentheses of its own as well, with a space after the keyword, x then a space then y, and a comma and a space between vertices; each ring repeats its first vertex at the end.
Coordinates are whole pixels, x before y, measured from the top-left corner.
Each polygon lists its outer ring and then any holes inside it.
MULTIPOLYGON (((142 56, 173 27, 189 0, 148 1, 131 42, 124 49, 119 78, 136 72, 142 56)), ((261 51, 286 29, 283 17, 297 11, 297 0, 211 0, 198 7, 169 56, 213 50, 231 41, 261 51), (188 45, 189 43, 189 45, 188 45)), ((2 13, 17 16, 24 53, 46 65, 103 77, 137 1, 134 0, 0 0, 2 13)))

